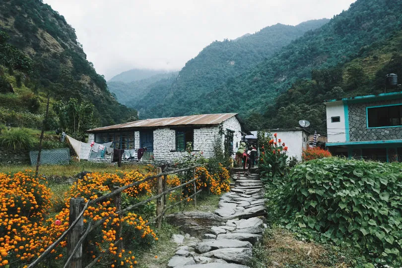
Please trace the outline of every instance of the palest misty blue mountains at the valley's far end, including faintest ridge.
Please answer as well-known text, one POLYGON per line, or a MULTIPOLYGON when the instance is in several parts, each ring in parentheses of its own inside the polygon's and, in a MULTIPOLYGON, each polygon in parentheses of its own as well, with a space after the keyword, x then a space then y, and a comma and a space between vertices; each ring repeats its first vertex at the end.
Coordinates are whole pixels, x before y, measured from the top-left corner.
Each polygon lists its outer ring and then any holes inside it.
MULTIPOLYGON (((116 99, 120 103, 127 105, 129 107, 135 107, 138 103, 138 100, 145 97, 145 95, 154 86, 164 84, 164 81, 162 80, 176 78, 179 72, 163 71, 161 73, 148 76, 151 73, 153 73, 152 70, 138 71, 137 69, 135 69, 135 71, 130 70, 127 72, 122 72, 121 74, 116 75, 115 77, 113 77, 108 81, 108 88, 110 92, 112 92, 112 94, 116 96, 116 99), (139 79, 139 77, 146 77, 146 78, 139 79), (124 81, 131 80, 131 81, 124 82, 123 80, 124 81)), ((170 85, 167 85, 167 88, 169 88, 169 86, 170 85)))

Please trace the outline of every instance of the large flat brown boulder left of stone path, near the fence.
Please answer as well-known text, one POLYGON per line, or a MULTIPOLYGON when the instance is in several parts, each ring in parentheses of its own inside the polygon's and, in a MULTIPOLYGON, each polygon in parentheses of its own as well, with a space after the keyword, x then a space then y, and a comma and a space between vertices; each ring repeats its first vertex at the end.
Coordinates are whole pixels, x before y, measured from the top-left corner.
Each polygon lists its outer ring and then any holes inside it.
POLYGON ((222 225, 226 220, 211 212, 191 211, 169 214, 166 221, 183 232, 199 237, 210 233, 212 226, 222 225))

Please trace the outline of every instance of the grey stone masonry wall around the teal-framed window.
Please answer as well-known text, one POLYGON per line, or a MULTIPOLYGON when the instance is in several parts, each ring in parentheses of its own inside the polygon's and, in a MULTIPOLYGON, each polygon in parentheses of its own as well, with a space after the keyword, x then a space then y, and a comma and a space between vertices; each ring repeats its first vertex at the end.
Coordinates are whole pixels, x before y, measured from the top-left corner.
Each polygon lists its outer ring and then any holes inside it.
POLYGON ((401 139, 402 128, 367 129, 366 118, 366 107, 400 103, 401 99, 348 104, 350 141, 401 139))

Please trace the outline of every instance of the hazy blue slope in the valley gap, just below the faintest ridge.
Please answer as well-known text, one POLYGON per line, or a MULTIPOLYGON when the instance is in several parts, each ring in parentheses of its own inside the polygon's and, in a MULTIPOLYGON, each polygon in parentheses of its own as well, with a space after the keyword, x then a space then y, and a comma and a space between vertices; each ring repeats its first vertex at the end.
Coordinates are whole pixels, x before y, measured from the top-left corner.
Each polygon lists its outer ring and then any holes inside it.
POLYGON ((158 83, 164 83, 161 80, 176 77, 178 73, 178 71, 162 72, 144 79, 136 79, 131 82, 109 80, 108 88, 120 103, 130 107, 135 107, 137 106, 137 102, 145 97, 153 86, 158 83))

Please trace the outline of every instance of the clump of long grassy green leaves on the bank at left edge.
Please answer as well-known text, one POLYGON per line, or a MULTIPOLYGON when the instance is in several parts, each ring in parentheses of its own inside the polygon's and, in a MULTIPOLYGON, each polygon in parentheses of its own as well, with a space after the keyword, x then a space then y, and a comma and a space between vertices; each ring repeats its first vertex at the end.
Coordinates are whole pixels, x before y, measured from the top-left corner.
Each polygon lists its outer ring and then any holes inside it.
POLYGON ((0 135, 0 145, 7 149, 25 150, 32 148, 35 142, 36 139, 26 129, 14 128, 0 135))

